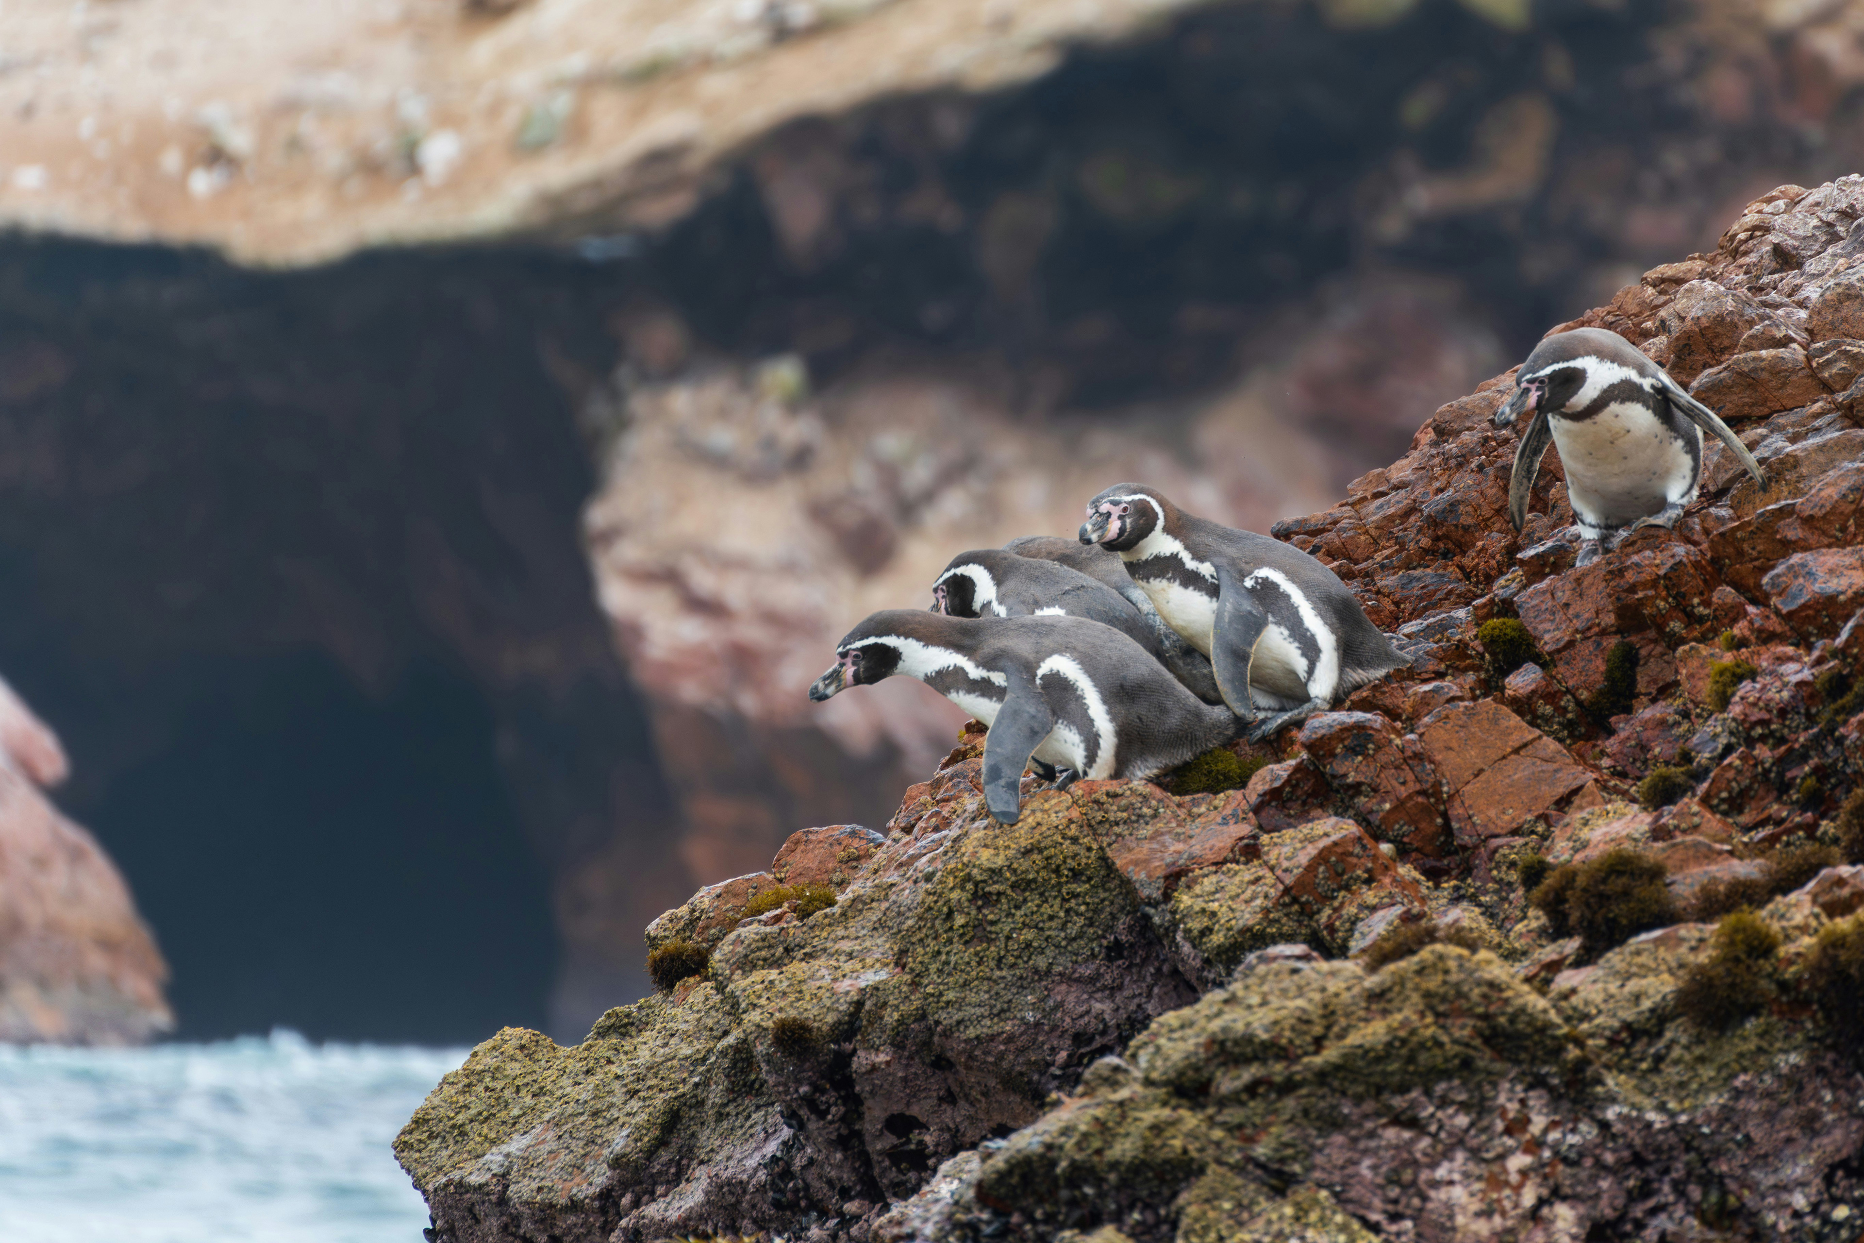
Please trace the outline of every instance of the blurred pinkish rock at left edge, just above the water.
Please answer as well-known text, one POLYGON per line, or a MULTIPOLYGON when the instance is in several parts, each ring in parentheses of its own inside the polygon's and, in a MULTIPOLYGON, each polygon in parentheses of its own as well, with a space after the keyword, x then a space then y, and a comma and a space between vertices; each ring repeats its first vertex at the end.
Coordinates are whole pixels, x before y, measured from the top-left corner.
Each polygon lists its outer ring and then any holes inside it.
POLYGON ((0 682, 0 1040, 140 1044, 175 1025, 168 963, 110 857, 41 794, 65 772, 0 682))

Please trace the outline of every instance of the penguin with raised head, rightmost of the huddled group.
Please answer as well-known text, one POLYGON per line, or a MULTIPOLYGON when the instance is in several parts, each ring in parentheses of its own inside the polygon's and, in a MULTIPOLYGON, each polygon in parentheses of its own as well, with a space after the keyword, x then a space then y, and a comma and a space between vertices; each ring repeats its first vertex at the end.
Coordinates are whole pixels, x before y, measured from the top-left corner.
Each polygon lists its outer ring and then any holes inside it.
POLYGON ((1159 617, 1210 656, 1251 742, 1409 663, 1320 561, 1195 518, 1158 488, 1107 488, 1089 501, 1079 539, 1120 553, 1159 617))

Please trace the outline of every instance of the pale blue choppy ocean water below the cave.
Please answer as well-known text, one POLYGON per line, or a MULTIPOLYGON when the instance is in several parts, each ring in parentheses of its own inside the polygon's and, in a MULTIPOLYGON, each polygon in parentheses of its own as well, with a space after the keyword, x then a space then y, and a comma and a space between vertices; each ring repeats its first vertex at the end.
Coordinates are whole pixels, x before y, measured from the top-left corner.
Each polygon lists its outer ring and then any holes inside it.
POLYGON ((466 1049, 0 1045, 0 1243, 421 1243, 390 1142, 466 1049))

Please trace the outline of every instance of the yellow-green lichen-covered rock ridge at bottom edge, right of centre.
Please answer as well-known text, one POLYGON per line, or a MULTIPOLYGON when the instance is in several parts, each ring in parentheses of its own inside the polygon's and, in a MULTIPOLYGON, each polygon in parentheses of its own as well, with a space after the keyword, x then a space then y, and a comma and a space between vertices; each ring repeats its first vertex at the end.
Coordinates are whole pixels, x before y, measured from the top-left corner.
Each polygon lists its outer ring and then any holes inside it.
POLYGON ((1303 1185, 1318 1137, 1439 1085, 1476 1101, 1510 1075, 1569 1083, 1564 1029, 1486 952, 1433 945, 1370 977, 1344 962, 1262 963, 1156 1019, 1128 1051, 1130 1073, 1089 1075, 1081 1096, 986 1154, 977 1198, 1035 1223, 1163 1208, 1180 1239, 1370 1239, 1303 1185), (1266 1168, 1295 1185, 1268 1185, 1266 1168))

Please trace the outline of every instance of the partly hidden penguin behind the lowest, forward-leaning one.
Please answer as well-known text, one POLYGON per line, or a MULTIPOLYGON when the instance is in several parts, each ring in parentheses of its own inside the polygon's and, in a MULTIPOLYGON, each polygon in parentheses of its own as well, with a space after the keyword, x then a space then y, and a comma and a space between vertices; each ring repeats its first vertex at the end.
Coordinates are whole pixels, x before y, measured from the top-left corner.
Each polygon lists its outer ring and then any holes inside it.
MULTIPOLYGON (((1139 593, 1118 557, 1103 555, 1115 561, 1120 578, 1139 593)), ((1144 593, 1139 594, 1143 598, 1144 593)), ((1159 621, 1150 600, 1141 613, 1102 580, 1059 561, 1020 557, 1003 548, 962 552, 932 583, 932 611, 947 617, 1087 617, 1146 649, 1204 703, 1223 703, 1210 662, 1159 621), (1171 635, 1171 643, 1161 641, 1161 630, 1171 635)))

